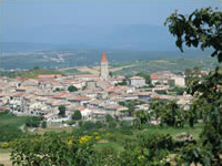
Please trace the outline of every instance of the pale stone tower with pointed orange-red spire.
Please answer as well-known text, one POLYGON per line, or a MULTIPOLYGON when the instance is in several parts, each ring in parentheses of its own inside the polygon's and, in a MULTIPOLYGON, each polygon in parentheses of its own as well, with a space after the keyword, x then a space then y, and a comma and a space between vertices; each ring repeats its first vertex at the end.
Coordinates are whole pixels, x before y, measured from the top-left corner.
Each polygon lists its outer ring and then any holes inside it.
POLYGON ((109 79, 108 60, 104 51, 102 51, 101 69, 100 69, 100 80, 107 81, 109 79))

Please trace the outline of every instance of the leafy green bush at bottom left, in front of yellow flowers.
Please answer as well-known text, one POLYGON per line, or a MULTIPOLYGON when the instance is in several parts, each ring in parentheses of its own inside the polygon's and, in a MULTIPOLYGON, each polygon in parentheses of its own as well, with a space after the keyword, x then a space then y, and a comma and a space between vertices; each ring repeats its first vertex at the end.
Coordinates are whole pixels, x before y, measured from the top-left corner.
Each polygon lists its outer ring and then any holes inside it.
POLYGON ((12 146, 11 160, 13 165, 89 166, 94 163, 93 145, 90 136, 38 135, 17 141, 12 146))

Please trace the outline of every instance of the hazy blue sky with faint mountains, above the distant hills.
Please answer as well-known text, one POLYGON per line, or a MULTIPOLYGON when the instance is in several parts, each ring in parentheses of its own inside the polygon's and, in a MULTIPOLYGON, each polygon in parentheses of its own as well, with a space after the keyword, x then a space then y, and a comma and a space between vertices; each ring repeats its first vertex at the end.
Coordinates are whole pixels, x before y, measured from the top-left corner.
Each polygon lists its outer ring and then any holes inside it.
MULTIPOLYGON (((164 20, 220 0, 1 0, 1 42, 132 44, 172 41, 164 20)), ((117 45, 115 45, 117 46, 117 45)))

